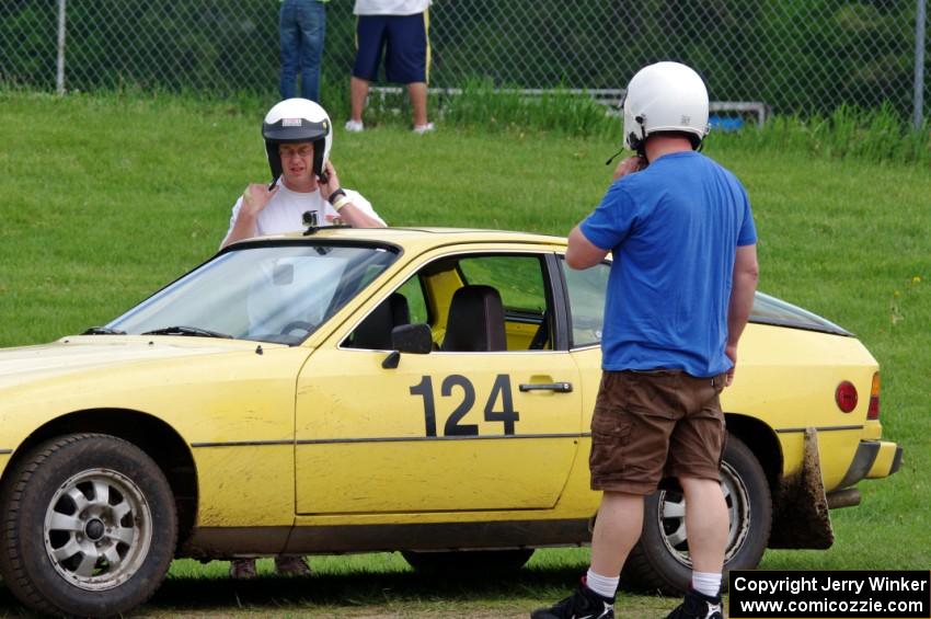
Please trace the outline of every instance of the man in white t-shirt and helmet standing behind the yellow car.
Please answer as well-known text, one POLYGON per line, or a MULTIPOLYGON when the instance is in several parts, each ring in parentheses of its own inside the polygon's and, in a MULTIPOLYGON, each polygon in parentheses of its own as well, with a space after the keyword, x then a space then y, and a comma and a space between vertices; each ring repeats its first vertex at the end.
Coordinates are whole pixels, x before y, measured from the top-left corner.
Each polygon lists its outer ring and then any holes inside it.
POLYGON ((237 200, 220 247, 234 241, 292 232, 303 227, 303 214, 317 214, 320 226, 333 222, 355 228, 383 228, 384 221, 358 192, 343 190, 330 162, 333 127, 326 111, 307 99, 276 104, 262 124, 274 181, 251 183, 237 200))

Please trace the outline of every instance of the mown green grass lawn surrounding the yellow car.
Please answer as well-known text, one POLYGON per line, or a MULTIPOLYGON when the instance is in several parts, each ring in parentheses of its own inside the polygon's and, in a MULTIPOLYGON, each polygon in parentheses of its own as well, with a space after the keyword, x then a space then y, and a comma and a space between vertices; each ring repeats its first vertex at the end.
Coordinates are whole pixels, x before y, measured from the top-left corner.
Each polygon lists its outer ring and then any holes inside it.
MULTIPOLYGON (((0 92, 0 345, 45 342, 104 323, 212 255, 235 196, 246 182, 268 177, 258 136, 263 106, 257 100, 0 92)), ((400 121, 360 135, 337 129, 333 160, 344 184, 360 190, 394 225, 565 234, 608 185, 604 161, 619 142, 617 121, 613 137, 593 130, 578 138, 570 126, 544 131, 527 118, 525 126, 470 118, 450 112, 449 124, 428 136, 410 134, 400 121)), ((334 117, 337 127, 343 121, 334 117)), ((886 129, 844 134, 841 121, 835 133, 820 129, 817 144, 886 144, 886 129)), ((834 548, 768 551, 762 568, 927 570, 929 159, 903 163, 907 158, 881 146, 826 152, 804 139, 806 125, 779 123, 774 137, 712 136, 705 152, 749 191, 760 236, 760 289, 859 335, 883 368, 885 437, 906 452, 899 473, 859 485, 861 506, 832 513, 834 548)), ((234 584, 222 563, 179 562, 146 611, 520 616, 562 596, 585 569, 587 551, 539 552, 530 569, 506 582, 423 580, 398 555, 313 563, 317 574, 308 584, 272 576, 234 584)), ((648 617, 674 604, 625 595, 622 607, 648 617)), ((0 589, 0 614, 15 608, 0 589)))

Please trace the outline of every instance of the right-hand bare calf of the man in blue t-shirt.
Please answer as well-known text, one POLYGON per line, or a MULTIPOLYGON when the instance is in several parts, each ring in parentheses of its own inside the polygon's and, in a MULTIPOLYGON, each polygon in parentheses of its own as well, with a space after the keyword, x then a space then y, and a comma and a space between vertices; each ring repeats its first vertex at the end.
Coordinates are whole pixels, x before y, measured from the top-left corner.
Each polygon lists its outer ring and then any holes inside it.
POLYGON ((692 570, 720 574, 724 569, 729 519, 721 484, 714 480, 679 478, 686 493, 686 530, 692 570))

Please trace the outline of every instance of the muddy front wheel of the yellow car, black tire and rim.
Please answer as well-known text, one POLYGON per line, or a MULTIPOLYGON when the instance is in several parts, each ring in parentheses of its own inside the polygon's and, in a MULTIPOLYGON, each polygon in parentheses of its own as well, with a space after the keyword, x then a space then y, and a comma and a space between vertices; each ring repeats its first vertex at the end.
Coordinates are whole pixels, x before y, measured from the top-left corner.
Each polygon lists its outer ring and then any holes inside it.
POLYGON ((159 466, 114 436, 71 434, 32 449, 0 492, 0 574, 49 615, 128 612, 174 557, 174 496, 159 466))

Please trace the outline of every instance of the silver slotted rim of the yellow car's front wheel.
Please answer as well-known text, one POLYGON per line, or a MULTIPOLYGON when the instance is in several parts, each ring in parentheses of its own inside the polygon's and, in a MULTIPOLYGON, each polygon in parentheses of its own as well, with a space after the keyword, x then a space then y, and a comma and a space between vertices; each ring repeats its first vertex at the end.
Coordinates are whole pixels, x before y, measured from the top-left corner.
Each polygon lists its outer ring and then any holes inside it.
POLYGON ((111 469, 89 469, 51 497, 44 534, 48 559, 66 581, 105 591, 125 583, 146 561, 152 514, 133 480, 111 469))

